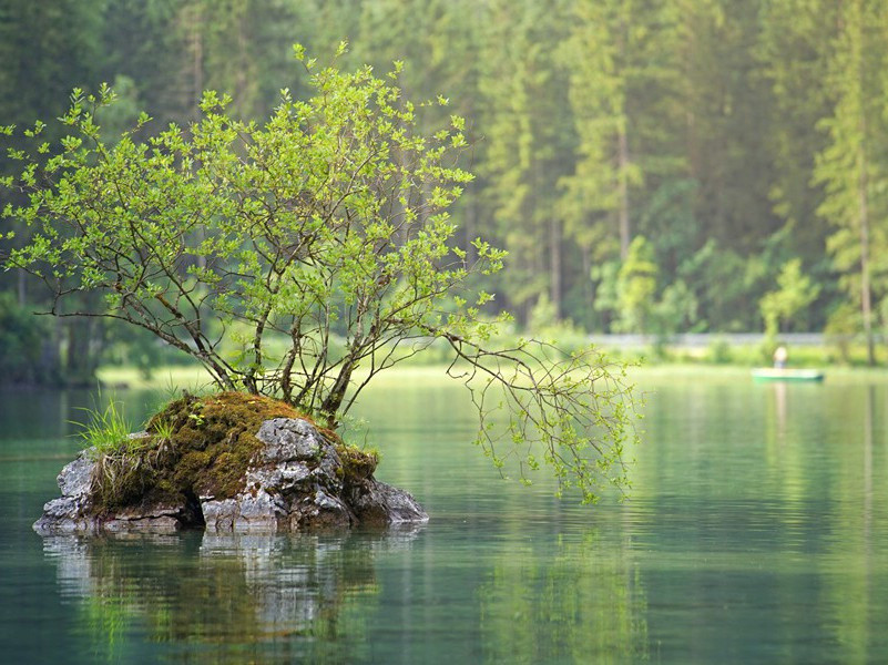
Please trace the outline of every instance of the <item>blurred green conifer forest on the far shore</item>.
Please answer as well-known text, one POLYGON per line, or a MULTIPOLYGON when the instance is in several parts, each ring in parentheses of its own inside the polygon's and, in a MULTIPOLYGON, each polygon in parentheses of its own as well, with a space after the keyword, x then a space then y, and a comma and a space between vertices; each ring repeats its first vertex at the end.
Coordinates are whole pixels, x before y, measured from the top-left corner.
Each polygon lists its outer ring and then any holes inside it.
MULTIPOLYGON (((408 98, 450 99, 430 130, 467 119, 477 180, 453 217, 467 248, 509 250, 487 288, 519 328, 825 331, 869 339, 872 361, 885 0, 0 0, 0 124, 57 117, 102 81, 116 132, 140 110, 186 125, 204 89, 262 120, 305 91, 293 43, 324 63, 343 39, 345 69, 404 60, 408 98)), ((32 316, 43 297, 0 275, 6 380, 164 359, 129 328, 32 316)))

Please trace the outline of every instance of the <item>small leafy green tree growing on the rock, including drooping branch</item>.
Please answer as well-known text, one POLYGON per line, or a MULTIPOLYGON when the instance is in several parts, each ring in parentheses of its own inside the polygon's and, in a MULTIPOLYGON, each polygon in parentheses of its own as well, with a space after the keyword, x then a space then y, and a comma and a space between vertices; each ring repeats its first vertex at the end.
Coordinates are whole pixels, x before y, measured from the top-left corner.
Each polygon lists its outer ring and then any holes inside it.
POLYGON ((314 96, 282 91, 263 125, 234 120, 229 99, 207 92, 187 130, 140 140, 143 114, 105 142, 96 116, 114 93, 74 91, 60 146, 10 151, 22 171, 3 184, 30 198, 3 215, 33 235, 4 265, 43 279, 50 314, 150 330, 221 388, 278 396, 329 427, 379 371, 443 339, 497 464, 520 454, 527 479, 542 454, 586 501, 602 483, 625 485, 624 375, 593 349, 487 346, 506 317, 484 320, 492 296, 469 283, 499 270, 503 253, 478 239, 470 262, 452 243, 447 208, 471 181, 457 165, 463 121, 420 133, 421 108, 396 85, 399 63, 380 79, 318 70, 298 47, 296 57, 314 96), (104 300, 69 308, 81 291, 104 300), (500 408, 509 418, 494 422, 500 408))

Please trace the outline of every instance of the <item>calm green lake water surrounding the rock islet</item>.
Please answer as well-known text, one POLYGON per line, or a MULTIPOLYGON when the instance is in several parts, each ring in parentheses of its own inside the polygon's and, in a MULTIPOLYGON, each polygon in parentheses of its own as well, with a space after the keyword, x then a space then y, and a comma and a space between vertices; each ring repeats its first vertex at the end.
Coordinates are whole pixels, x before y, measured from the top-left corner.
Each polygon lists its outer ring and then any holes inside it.
POLYGON ((459 386, 401 379, 361 415, 429 524, 275 538, 39 538, 90 398, 0 395, 0 661, 888 662, 888 379, 645 376, 632 500, 592 509, 500 481, 459 386))

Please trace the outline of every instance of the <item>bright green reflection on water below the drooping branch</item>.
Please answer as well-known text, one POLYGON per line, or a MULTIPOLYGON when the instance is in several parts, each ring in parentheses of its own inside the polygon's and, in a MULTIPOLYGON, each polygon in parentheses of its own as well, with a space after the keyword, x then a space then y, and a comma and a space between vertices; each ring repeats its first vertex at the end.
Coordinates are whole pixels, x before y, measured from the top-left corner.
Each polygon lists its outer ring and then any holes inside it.
POLYGON ((595 529, 560 540, 548 561, 532 549, 498 557, 480 589, 484 662, 647 659, 647 602, 627 541, 595 529))

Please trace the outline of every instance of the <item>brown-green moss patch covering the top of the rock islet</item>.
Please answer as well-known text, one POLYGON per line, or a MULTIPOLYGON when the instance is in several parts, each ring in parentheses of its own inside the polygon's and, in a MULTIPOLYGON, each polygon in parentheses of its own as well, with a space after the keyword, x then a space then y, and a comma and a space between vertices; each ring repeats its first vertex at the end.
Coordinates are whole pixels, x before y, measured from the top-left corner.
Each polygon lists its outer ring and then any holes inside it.
POLYGON ((246 470, 262 449, 254 436, 272 418, 303 418, 267 397, 222 392, 185 395, 151 418, 145 446, 99 460, 93 484, 100 512, 187 497, 229 499, 244 489, 246 470))

